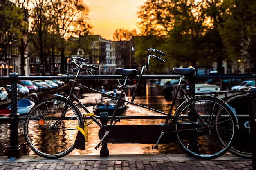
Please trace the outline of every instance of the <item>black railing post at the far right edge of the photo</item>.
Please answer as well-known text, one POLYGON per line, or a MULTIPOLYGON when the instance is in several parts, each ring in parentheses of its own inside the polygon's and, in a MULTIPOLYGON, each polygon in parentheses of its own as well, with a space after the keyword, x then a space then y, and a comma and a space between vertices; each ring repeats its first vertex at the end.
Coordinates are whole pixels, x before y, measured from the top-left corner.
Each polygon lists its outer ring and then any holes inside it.
POLYGON ((247 91, 249 107, 249 125, 252 144, 252 169, 256 168, 256 87, 247 91))

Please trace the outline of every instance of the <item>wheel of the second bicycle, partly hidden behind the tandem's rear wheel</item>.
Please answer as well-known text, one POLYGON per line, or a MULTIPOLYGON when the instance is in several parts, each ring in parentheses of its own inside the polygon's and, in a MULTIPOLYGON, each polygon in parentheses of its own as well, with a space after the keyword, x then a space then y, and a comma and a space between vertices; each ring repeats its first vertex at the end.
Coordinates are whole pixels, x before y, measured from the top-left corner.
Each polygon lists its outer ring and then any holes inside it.
POLYGON ((252 144, 250 139, 249 127, 249 108, 247 94, 238 94, 227 101, 229 106, 235 108, 238 118, 239 130, 236 133, 235 140, 229 152, 233 155, 243 158, 252 157, 252 144))

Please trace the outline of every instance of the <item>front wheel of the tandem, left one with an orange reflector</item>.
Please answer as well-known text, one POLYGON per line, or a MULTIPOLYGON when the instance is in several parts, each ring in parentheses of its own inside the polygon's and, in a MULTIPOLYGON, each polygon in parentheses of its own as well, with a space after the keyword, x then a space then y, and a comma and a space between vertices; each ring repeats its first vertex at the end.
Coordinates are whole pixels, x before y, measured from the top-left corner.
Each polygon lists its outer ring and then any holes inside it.
POLYGON ((63 157, 75 147, 78 130, 83 127, 83 117, 78 107, 68 105, 61 124, 53 124, 61 116, 65 99, 45 99, 34 106, 25 119, 24 135, 29 148, 44 158, 63 157))

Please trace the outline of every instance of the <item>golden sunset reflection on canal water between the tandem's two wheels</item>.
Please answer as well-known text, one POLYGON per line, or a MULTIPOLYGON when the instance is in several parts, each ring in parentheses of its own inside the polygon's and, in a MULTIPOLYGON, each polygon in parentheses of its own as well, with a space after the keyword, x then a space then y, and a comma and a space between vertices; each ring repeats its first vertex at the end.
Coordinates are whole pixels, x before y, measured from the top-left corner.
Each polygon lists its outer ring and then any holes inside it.
MULTIPOLYGON (((94 96, 87 94, 82 100, 87 106, 90 106, 90 102, 94 100, 94 96)), ((131 97, 128 97, 130 100, 131 97)), ((136 97, 135 103, 142 104, 154 108, 156 110, 168 113, 171 102, 166 101, 162 96, 152 96, 152 97, 136 97)), ((91 103, 94 104, 94 103, 91 103)), ((89 107, 92 111, 92 106, 89 107)), ((128 104, 128 108, 122 114, 126 116, 159 116, 161 114, 155 113, 153 111, 141 108, 138 106, 133 106, 128 104)), ((118 125, 142 125, 142 124, 159 124, 164 123, 164 119, 121 119, 118 125)), ((98 137, 99 127, 96 124, 91 124, 88 126, 88 136, 89 141, 85 143, 85 150, 74 150, 71 152, 73 155, 80 154, 96 154, 99 155, 100 148, 95 150, 94 147, 99 143, 98 137)), ((155 154, 155 153, 184 153, 177 143, 172 144, 159 144, 158 150, 152 150, 152 146, 155 144, 108 144, 109 154, 155 154)))

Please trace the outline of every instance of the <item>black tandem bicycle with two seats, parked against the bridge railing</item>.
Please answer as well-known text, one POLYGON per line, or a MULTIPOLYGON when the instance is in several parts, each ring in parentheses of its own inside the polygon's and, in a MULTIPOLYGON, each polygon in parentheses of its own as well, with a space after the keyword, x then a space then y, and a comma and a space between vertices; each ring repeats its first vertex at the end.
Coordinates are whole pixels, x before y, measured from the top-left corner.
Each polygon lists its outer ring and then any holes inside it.
MULTIPOLYGON (((95 149, 99 148, 101 143, 155 144, 152 149, 157 149, 158 144, 177 141, 188 155, 198 159, 213 159, 225 154, 232 146, 238 129, 236 113, 226 102, 218 98, 219 93, 207 93, 209 95, 205 95, 206 93, 185 93, 181 81, 184 78, 195 77, 195 68, 173 69, 173 73, 181 76, 168 113, 134 102, 143 72, 145 69, 149 69, 150 58, 164 62, 162 58, 150 54, 150 51, 164 55, 162 51, 148 49, 146 65, 142 66, 139 75, 136 69, 116 69, 116 73, 124 77, 124 83, 119 83, 121 86, 119 97, 79 84, 77 77, 82 69, 91 73, 89 69, 97 70, 98 68, 85 64, 86 60, 83 58, 73 57, 71 63, 75 66, 74 70, 77 72, 75 78, 70 80, 72 86, 68 96, 63 97, 54 94, 52 99, 39 102, 27 114, 24 133, 31 150, 41 157, 59 158, 69 154, 74 148, 85 149, 85 141, 88 140, 87 126, 95 122, 100 128, 99 139, 101 139, 95 149), (128 88, 126 86, 128 79, 138 79, 130 101, 121 98, 125 89, 128 88), (101 113, 100 119, 106 125, 103 126, 97 117, 90 113, 74 95, 75 87, 86 88, 117 99, 117 106, 112 116, 101 113), (186 101, 173 114, 172 111, 179 92, 184 95, 186 101), (189 97, 188 95, 196 96, 189 97), (76 101, 86 113, 82 115, 79 107, 73 101, 76 101), (117 125, 121 116, 117 116, 115 113, 120 101, 160 113, 163 116, 155 118, 163 119, 164 123, 156 125, 117 125), (87 119, 91 119, 90 122, 87 123, 87 119), (107 124, 108 121, 110 121, 109 124, 107 124)), ((141 117, 141 119, 144 119, 144 117, 141 117)))

